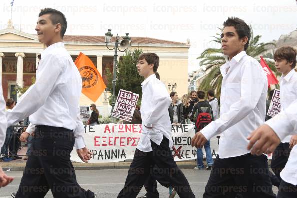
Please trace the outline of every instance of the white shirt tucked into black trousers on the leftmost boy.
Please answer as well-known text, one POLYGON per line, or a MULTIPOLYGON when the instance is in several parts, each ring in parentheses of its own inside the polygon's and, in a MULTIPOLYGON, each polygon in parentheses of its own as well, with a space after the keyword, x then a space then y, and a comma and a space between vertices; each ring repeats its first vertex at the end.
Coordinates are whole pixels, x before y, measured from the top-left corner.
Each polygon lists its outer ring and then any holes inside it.
MULTIPOLYGON (((41 53, 36 83, 7 112, 8 125, 30 116, 32 125, 74 130, 75 148, 85 147, 79 97, 82 80, 64 43, 50 45, 41 53)), ((31 126, 32 126, 31 125, 31 126)))

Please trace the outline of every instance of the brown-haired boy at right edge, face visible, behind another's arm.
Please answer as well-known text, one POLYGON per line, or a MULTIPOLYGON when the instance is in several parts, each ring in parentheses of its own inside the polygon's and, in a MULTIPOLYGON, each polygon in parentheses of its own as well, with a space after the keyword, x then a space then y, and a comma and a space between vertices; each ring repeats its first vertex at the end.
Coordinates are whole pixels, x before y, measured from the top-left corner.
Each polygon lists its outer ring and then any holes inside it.
MULTIPOLYGON (((280 105, 281 111, 286 109, 295 99, 297 99, 297 73, 294 70, 296 66, 296 50, 293 47, 281 47, 274 53, 275 67, 280 78, 280 105)), ((284 168, 292 147, 297 143, 297 135, 285 137, 275 149, 271 169, 275 175, 280 178, 280 172, 284 168)))

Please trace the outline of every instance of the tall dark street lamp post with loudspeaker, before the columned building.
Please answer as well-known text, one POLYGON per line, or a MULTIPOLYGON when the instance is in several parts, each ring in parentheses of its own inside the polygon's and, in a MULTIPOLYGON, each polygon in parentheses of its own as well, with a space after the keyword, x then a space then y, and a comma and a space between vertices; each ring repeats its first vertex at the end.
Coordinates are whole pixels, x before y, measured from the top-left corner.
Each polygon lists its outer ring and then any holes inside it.
POLYGON ((112 79, 112 108, 111 108, 111 113, 113 112, 114 106, 115 106, 115 85, 116 85, 116 68, 117 68, 117 50, 124 52, 126 51, 129 46, 131 46, 131 38, 129 37, 129 33, 126 33, 126 35, 123 37, 122 40, 120 40, 121 37, 118 36, 118 34, 116 34, 115 37, 115 43, 114 43, 114 47, 113 48, 109 48, 108 44, 110 43, 112 38, 112 34, 111 34, 111 29, 108 29, 108 32, 105 33, 105 43, 106 43, 106 47, 109 50, 113 50, 114 51, 114 55, 113 55, 113 79, 112 79), (122 49, 122 50, 121 50, 122 49))

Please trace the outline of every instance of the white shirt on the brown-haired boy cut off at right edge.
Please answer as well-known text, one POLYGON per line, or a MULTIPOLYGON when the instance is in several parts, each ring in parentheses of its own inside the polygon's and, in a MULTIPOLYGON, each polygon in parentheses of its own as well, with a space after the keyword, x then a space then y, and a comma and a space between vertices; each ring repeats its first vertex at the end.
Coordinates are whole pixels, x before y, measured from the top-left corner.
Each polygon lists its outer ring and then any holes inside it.
MULTIPOLYGON (((280 78, 280 106, 281 111, 286 109, 297 99, 297 73, 292 69, 286 76, 280 78)), ((281 142, 289 143, 291 135, 285 137, 281 142)))

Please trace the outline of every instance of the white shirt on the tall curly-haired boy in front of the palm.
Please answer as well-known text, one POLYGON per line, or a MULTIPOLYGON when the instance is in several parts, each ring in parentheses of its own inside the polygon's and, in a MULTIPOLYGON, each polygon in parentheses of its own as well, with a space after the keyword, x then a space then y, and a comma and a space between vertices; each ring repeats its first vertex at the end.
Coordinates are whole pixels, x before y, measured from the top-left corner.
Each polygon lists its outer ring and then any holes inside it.
POLYGON ((249 153, 246 137, 264 123, 266 113, 267 77, 257 60, 238 53, 220 67, 223 76, 220 96, 220 117, 201 133, 210 140, 221 133, 220 158, 249 153))

